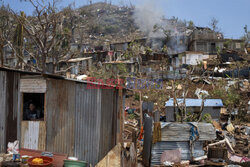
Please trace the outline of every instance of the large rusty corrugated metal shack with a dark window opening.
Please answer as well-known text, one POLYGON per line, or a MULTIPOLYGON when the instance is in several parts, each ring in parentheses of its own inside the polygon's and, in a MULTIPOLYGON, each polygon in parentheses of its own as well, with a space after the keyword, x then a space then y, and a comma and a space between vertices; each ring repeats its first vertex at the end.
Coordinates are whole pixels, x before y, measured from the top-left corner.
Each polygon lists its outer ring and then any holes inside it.
POLYGON ((0 137, 5 138, 4 142, 0 140, 1 152, 6 151, 8 141, 18 139, 21 148, 64 153, 95 165, 116 145, 119 100, 115 87, 98 89, 85 81, 2 68, 0 76, 0 94, 11 96, 9 101, 0 100, 1 106, 6 106, 0 110, 4 116, 0 117, 0 137), (6 75, 11 83, 8 89, 6 75), (36 95, 43 98, 44 117, 24 120, 25 100, 36 95), (12 126, 6 126, 6 122, 12 126), (13 136, 9 137, 7 131, 13 136))

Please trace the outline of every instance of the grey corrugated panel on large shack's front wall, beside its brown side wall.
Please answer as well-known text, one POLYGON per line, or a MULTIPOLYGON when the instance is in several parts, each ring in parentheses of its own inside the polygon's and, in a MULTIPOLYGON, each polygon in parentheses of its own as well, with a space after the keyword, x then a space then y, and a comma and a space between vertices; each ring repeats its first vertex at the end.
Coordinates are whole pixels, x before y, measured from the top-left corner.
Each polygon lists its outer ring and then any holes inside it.
POLYGON ((76 84, 75 156, 92 165, 98 162, 101 90, 76 84))

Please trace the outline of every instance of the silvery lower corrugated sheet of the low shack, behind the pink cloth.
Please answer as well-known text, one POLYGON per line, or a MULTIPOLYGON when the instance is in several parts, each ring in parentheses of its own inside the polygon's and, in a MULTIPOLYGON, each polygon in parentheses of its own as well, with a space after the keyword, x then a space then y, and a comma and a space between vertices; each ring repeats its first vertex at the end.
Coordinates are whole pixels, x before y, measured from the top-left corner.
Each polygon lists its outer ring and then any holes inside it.
MULTIPOLYGON (((200 157, 204 155, 202 149, 202 142, 194 143, 194 157, 200 157)), ((189 147, 189 142, 157 142, 153 144, 152 147, 152 158, 151 165, 160 165, 161 164, 161 155, 166 150, 176 150, 181 149, 181 159, 182 160, 191 160, 191 152, 189 147)))

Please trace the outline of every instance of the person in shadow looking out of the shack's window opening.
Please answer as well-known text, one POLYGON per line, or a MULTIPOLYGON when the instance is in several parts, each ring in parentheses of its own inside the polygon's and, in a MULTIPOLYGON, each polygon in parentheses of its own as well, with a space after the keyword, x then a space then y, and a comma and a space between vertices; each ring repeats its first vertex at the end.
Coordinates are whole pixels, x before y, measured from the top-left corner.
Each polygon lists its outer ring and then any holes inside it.
POLYGON ((24 113, 24 120, 36 120, 41 118, 41 111, 37 109, 37 106, 34 103, 30 103, 29 108, 26 109, 24 113))

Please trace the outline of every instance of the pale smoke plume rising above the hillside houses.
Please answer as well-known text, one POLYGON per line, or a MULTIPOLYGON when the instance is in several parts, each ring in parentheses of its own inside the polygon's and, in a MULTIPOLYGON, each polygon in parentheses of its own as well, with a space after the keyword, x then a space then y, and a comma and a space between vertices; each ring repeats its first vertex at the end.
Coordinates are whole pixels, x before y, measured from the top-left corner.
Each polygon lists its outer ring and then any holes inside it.
POLYGON ((141 0, 135 7, 134 21, 140 31, 144 32, 154 50, 167 45, 168 53, 177 53, 186 50, 185 42, 181 41, 183 33, 178 31, 177 22, 164 17, 163 8, 157 6, 159 0, 141 0), (166 32, 170 37, 166 41, 166 32))

